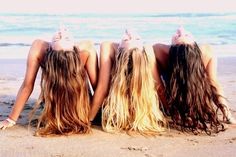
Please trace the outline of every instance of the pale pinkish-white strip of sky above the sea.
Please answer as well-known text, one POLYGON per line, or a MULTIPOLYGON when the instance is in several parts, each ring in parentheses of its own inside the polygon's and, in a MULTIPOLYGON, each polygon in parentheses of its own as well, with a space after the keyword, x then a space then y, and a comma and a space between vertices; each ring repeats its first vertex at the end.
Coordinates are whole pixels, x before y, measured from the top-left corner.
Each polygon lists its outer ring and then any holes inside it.
POLYGON ((235 0, 7 0, 2 13, 236 12, 235 0))

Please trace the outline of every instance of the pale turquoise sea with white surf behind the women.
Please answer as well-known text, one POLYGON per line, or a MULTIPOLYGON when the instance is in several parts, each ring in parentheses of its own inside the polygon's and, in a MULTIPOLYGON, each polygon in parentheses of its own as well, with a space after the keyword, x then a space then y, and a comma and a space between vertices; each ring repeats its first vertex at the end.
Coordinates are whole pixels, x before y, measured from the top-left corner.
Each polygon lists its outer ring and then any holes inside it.
POLYGON ((51 39, 60 25, 76 40, 96 46, 119 41, 126 28, 136 30, 147 43, 169 44, 179 26, 192 32, 198 43, 224 47, 236 54, 236 13, 182 14, 29 14, 0 13, 0 58, 25 58, 34 39, 51 39))

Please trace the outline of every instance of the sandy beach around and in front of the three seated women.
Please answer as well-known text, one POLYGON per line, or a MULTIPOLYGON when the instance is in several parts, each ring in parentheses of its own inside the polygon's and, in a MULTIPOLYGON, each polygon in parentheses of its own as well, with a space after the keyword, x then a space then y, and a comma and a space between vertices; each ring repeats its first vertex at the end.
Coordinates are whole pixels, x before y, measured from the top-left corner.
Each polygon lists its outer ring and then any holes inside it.
MULTIPOLYGON (((7 117, 23 81, 25 59, 0 59, 0 120, 7 117)), ((236 117, 236 57, 218 58, 218 79, 236 117)), ((170 130, 144 137, 110 134, 93 126, 89 135, 35 137, 28 113, 39 94, 39 77, 17 125, 0 131, 0 157, 235 157, 236 126, 215 136, 170 130)))

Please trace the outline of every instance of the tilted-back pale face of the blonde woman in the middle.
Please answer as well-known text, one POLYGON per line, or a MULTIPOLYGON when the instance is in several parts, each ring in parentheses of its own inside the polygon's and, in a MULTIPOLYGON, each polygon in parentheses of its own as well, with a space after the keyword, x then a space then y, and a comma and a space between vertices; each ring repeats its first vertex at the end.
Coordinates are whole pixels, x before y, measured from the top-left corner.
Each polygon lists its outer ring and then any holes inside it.
POLYGON ((119 43, 119 47, 124 49, 143 49, 143 42, 137 32, 126 29, 122 40, 119 43))

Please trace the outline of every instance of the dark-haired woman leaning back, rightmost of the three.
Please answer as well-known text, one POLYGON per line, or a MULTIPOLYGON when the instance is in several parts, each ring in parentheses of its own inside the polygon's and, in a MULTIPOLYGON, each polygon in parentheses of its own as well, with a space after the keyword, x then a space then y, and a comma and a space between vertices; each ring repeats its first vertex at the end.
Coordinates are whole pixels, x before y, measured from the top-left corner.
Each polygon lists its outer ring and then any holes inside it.
POLYGON ((216 79, 216 60, 209 46, 199 48, 192 35, 180 28, 171 46, 153 48, 166 84, 165 90, 159 77, 158 93, 176 126, 194 133, 217 133, 224 130, 218 111, 223 120, 235 123, 216 79))

